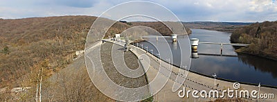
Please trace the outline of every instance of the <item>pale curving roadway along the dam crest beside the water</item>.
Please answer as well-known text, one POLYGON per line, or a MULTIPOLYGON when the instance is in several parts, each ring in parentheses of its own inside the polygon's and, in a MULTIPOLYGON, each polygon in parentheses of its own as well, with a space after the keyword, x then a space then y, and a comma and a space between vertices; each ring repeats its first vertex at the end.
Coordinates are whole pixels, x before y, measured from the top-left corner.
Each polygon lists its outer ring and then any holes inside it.
MULTIPOLYGON (((117 42, 112 40, 105 40, 106 42, 116 43, 120 46, 124 46, 125 43, 123 42, 117 42)), ((195 74, 193 72, 186 71, 184 69, 180 69, 179 67, 175 67, 172 65, 169 65, 168 62, 165 62, 163 60, 159 60, 159 58, 153 56, 151 53, 146 53, 145 50, 136 47, 131 46, 131 50, 138 58, 141 59, 149 59, 150 62, 146 60, 140 60, 143 67, 147 67, 150 64, 150 67, 148 70, 146 70, 146 75, 148 78, 148 82, 151 82, 154 80, 154 78, 157 76, 158 73, 163 74, 163 78, 168 78, 168 82, 164 87, 157 93, 152 93, 154 95, 154 101, 214 101, 213 98, 198 98, 195 99, 192 97, 192 94, 190 94, 190 98, 179 98, 178 92, 179 90, 183 90, 183 87, 186 87, 186 90, 206 90, 206 92, 209 92, 210 90, 217 90, 220 95, 222 93, 222 90, 226 90, 228 87, 230 90, 233 90, 233 83, 224 81, 224 80, 216 80, 216 83, 219 83, 219 86, 214 88, 214 79, 208 78, 206 76, 201 76, 199 74, 195 74), (146 55, 146 56, 142 56, 146 55), (140 57, 141 56, 141 57, 140 57), (169 67, 172 67, 172 70, 168 69, 169 67), (170 73, 170 76, 167 74, 170 73), (187 77, 185 77, 187 75, 187 77), (175 80, 175 79, 181 79, 181 80, 175 80), (182 79, 186 79, 185 82, 182 82, 182 79), (177 83, 181 85, 181 87, 176 91, 172 92, 172 86, 174 83, 177 83)), ((155 86, 150 85, 150 92, 155 89, 155 86)), ((240 90, 258 90, 258 86, 253 85, 244 85, 241 84, 240 90)), ((260 93, 263 94, 277 94, 277 90, 274 88, 269 87, 260 87, 260 93)), ((187 94, 186 94, 187 95, 187 94)), ((225 95, 226 96, 226 95, 225 95)), ((224 98, 226 99, 226 98, 224 98)), ((257 101, 257 99, 249 98, 249 99, 243 99, 245 101, 257 101)), ((277 101, 277 99, 259 99, 259 101, 277 101)))

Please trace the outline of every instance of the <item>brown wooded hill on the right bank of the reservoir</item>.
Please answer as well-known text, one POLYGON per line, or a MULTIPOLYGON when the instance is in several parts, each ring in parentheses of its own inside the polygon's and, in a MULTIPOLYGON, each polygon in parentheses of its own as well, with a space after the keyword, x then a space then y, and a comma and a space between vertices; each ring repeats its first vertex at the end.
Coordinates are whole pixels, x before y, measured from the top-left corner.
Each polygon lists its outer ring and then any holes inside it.
POLYGON ((233 31, 231 42, 250 44, 238 52, 277 60, 277 22, 255 23, 233 31))

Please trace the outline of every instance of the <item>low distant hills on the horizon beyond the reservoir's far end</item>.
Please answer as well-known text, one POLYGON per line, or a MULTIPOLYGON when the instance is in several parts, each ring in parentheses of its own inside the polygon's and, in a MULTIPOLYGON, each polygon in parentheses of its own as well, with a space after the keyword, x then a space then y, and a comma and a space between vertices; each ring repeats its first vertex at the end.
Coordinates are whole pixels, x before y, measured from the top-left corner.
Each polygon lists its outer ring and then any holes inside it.
POLYGON ((244 22, 183 22, 184 26, 195 29, 207 29, 213 31, 232 32, 236 28, 253 23, 244 22))

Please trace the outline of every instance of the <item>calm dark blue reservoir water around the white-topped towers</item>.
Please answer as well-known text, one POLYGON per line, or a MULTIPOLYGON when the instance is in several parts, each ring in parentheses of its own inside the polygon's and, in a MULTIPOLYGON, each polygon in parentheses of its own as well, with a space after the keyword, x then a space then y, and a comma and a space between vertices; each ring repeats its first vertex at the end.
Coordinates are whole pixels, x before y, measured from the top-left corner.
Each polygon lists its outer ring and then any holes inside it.
MULTIPOLYGON (((189 37, 198 38, 199 42, 230 42, 231 33, 202 29, 193 29, 192 31, 193 34, 189 37)), ((161 39, 159 38, 157 42, 156 37, 150 37, 145 42, 139 42, 139 46, 143 44, 145 50, 145 46, 148 46, 148 51, 151 53, 150 49, 153 49, 156 56, 156 53, 160 53, 161 59, 172 59, 170 62, 174 65, 188 65, 190 70, 208 76, 216 73, 218 77, 229 80, 277 86, 277 61, 249 55, 239 55, 238 57, 199 55, 199 58, 192 58, 190 63, 190 44, 185 35, 179 35, 178 42, 172 42, 171 38, 161 39), (168 54, 170 51, 173 53, 172 56, 168 54)), ((222 54, 237 56, 238 54, 234 50, 233 46, 224 45, 222 54)), ((220 45, 199 44, 198 53, 220 54, 220 45)))

